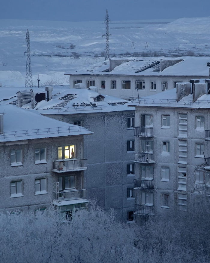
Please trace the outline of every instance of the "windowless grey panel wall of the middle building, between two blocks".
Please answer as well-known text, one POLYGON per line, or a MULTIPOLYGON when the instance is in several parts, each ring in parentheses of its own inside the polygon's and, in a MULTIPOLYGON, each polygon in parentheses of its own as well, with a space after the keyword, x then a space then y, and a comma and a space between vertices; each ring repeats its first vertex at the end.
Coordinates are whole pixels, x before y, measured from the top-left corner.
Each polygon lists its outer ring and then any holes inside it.
MULTIPOLYGON (((113 106, 114 110, 114 106, 113 106)), ((120 220, 127 220, 127 212, 134 211, 134 198, 127 198, 127 188, 134 187, 135 175, 127 175, 127 165, 133 163, 134 151, 127 152, 127 141, 134 141, 134 131, 127 127, 127 119, 134 110, 50 115, 68 123, 81 121, 90 125, 93 135, 84 136, 84 158, 88 159, 88 199, 96 198, 106 210, 114 208, 120 220)))

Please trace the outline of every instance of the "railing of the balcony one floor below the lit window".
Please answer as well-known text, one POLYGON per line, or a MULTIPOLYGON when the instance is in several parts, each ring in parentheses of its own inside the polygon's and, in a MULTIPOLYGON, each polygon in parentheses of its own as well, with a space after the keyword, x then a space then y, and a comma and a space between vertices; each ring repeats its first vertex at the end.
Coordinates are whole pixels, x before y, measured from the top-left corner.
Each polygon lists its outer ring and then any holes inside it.
POLYGON ((86 189, 65 191, 65 192, 53 192, 53 200, 56 202, 77 200, 86 198, 86 189))

